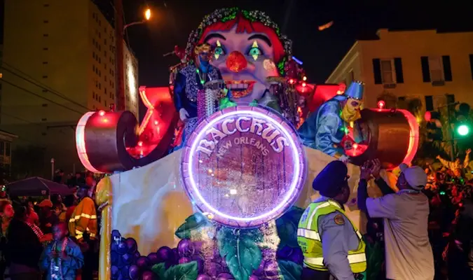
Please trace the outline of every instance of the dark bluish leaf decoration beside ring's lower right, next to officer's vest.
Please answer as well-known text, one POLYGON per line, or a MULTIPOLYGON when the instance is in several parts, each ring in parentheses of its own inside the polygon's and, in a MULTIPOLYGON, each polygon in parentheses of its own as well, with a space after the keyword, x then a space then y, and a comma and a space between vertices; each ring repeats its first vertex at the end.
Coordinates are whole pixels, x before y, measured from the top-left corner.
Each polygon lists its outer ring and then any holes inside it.
POLYGON ((292 207, 276 220, 277 235, 279 235, 280 238, 280 248, 284 246, 299 248, 299 244, 297 243, 297 227, 303 213, 304 209, 292 207))

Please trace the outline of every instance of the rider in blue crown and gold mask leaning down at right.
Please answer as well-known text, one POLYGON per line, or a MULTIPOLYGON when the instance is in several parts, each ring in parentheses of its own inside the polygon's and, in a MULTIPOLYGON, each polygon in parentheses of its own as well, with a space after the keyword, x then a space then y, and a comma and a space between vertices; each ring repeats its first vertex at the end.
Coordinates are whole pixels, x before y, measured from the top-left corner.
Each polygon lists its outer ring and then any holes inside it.
POLYGON ((364 84, 354 81, 343 94, 324 102, 310 114, 299 127, 303 144, 348 162, 341 141, 347 134, 346 127, 361 118, 363 90, 364 84))

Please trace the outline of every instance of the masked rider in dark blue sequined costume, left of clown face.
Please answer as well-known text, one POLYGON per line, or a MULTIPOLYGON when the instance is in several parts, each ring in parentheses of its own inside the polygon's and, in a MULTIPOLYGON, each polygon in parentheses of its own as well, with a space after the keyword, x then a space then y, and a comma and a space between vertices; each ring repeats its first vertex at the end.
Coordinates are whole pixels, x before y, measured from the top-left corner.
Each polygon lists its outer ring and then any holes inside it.
POLYGON ((205 91, 205 83, 222 80, 219 69, 210 64, 212 47, 209 44, 197 45, 194 54, 195 63, 181 69, 174 82, 174 105, 184 123, 181 145, 174 150, 184 146, 186 139, 198 125, 198 96, 200 91, 205 91))

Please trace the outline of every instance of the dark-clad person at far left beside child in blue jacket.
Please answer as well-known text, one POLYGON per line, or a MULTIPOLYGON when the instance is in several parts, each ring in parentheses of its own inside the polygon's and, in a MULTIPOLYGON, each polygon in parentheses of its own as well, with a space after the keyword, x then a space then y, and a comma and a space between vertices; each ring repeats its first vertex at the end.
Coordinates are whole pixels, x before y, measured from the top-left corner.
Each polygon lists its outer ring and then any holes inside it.
MULTIPOLYGON (((7 260, 10 262, 12 280, 40 280, 38 263, 43 251, 39 232, 26 221, 29 207, 22 206, 15 211, 15 218, 7 231, 7 260)), ((42 234, 42 233, 41 233, 42 234)))

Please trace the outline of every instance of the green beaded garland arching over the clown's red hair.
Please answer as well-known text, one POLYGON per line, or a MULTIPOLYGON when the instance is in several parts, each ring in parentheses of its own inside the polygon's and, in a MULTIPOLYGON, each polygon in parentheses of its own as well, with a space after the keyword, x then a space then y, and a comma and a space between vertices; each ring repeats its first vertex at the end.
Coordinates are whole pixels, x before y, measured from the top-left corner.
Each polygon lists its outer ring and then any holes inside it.
POLYGON ((203 31, 206 27, 214 24, 215 22, 227 22, 228 20, 233 20, 236 18, 238 13, 241 13, 244 18, 250 20, 252 22, 261 22, 263 25, 274 29, 277 36, 284 46, 285 49, 285 57, 281 59, 280 62, 277 63, 277 69, 280 71, 280 74, 284 76, 285 74, 285 66, 287 62, 292 57, 292 41, 287 38, 287 36, 280 34, 280 29, 278 25, 271 20, 266 13, 263 13, 259 10, 242 10, 240 8, 221 8, 215 10, 213 13, 209 15, 205 15, 203 21, 200 22, 200 25, 197 29, 193 30, 191 34, 189 34, 186 50, 184 52, 184 60, 191 62, 191 57, 193 57, 193 51, 195 46, 198 44, 200 37, 202 36, 203 31))

